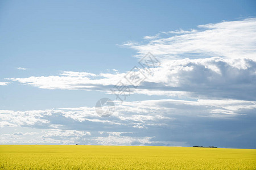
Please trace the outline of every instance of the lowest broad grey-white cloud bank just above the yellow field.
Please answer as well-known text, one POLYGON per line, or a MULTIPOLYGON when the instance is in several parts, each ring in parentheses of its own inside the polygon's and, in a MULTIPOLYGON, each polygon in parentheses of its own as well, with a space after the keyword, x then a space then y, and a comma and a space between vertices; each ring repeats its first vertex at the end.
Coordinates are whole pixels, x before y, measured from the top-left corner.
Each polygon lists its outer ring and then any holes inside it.
MULTIPOLYGON (((81 145, 236 146, 255 138, 255 101, 144 100, 116 101, 111 117, 100 117, 94 108, 60 108, 43 111, 0 111, 1 143, 81 145), (244 124, 241 124, 244 121, 244 124), (218 128, 214 127, 218 124, 218 128), (14 129, 19 129, 16 132, 14 129), (29 129, 29 131, 27 131, 29 129), (22 131, 24 130, 24 131, 22 131), (238 135, 243 134, 246 135, 238 135), (168 135, 166 135, 168 134, 168 135), (211 137, 216 137, 212 139, 211 137)), ((251 144, 251 147, 255 145, 251 144)))

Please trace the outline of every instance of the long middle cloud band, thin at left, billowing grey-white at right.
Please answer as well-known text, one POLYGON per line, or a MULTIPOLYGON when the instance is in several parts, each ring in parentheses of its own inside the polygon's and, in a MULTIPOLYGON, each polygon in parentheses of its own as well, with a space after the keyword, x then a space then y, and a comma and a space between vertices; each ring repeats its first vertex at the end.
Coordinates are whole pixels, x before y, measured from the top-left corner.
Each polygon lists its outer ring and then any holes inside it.
POLYGON ((255 100, 256 61, 253 59, 175 59, 134 71, 143 81, 137 90, 125 77, 130 73, 92 74, 64 71, 56 76, 10 78, 39 88, 98 90, 112 94, 114 86, 129 86, 129 94, 167 95, 199 99, 255 100), (246 87, 246 88, 245 88, 246 87))

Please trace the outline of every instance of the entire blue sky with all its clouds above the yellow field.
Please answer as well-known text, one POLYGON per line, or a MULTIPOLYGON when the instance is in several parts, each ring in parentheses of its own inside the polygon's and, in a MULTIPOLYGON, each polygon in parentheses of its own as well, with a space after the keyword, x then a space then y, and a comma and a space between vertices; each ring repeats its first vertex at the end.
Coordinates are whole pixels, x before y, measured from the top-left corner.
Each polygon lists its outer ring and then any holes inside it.
POLYGON ((256 148, 255 8, 1 1, 0 144, 256 148))

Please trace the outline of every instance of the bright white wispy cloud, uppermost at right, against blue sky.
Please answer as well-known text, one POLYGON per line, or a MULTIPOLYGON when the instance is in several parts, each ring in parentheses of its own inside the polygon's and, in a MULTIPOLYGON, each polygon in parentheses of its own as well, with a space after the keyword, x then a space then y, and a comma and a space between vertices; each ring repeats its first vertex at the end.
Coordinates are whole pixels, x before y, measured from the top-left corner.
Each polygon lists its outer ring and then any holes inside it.
MULTIPOLYGON (((168 33, 168 32, 165 32, 168 33)), ((199 25, 192 31, 170 31, 176 33, 170 37, 160 37, 140 44, 126 42, 123 46, 138 51, 143 57, 147 52, 153 53, 159 59, 176 58, 251 58, 256 56, 256 19, 221 22, 217 24, 199 25)))

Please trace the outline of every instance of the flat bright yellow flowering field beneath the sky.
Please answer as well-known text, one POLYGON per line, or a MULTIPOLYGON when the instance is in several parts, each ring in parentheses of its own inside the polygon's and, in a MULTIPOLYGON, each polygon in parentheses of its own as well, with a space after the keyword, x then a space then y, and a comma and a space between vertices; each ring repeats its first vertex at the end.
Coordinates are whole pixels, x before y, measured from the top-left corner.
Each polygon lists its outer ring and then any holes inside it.
POLYGON ((0 145, 0 169, 256 169, 256 150, 0 145))

